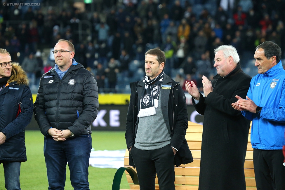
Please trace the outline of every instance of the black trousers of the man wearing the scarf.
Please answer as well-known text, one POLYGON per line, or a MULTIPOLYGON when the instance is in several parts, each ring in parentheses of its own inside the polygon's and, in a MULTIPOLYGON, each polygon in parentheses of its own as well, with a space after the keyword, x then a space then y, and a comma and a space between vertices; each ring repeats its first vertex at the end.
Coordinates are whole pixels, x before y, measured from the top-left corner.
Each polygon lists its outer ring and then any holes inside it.
POLYGON ((156 174, 160 190, 175 190, 174 154, 170 144, 156 150, 140 150, 133 146, 131 155, 140 190, 154 190, 156 174))

